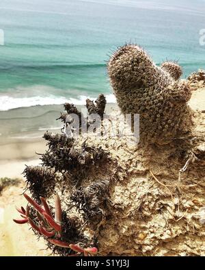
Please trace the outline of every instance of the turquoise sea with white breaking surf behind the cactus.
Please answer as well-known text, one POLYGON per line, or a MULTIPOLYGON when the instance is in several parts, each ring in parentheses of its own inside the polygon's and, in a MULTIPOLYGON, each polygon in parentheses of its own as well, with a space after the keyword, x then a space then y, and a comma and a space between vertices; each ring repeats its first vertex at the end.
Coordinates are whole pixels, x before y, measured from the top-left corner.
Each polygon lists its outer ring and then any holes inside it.
POLYGON ((157 64, 179 60, 184 77, 205 69, 202 0, 1 0, 0 110, 105 93, 106 61, 137 42, 157 64))

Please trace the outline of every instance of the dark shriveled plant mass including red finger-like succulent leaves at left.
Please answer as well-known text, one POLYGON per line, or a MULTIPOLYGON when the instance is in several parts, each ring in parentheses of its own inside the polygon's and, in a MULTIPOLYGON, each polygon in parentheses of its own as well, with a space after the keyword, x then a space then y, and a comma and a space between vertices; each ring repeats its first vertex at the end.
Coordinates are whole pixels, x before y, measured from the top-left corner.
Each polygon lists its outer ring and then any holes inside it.
MULTIPOLYGON (((95 106, 93 101, 89 102, 95 106)), ((101 117, 105 104, 105 97, 100 95, 96 100, 95 112, 90 111, 88 114, 97 112, 101 117)), ((70 125, 68 120, 71 119, 72 122, 72 114, 87 121, 73 104, 65 103, 64 108, 66 112, 61 113, 59 118, 64 125, 70 125)), ((90 110, 89 105, 87 109, 90 110)), ((98 251, 95 247, 96 238, 87 238, 81 227, 83 223, 88 223, 94 228, 104 218, 106 210, 103 209, 109 201, 109 180, 90 183, 89 179, 91 175, 95 175, 96 167, 109 164, 109 152, 102 147, 87 145, 86 138, 81 138, 80 143, 79 136, 68 136, 64 128, 61 131, 62 134, 44 134, 48 150, 40 154, 42 165, 25 168, 27 189, 32 198, 24 194, 30 206, 26 210, 23 207, 17 209, 23 219, 14 219, 14 222, 29 223, 33 232, 46 239, 54 254, 94 256, 98 251), (49 208, 46 200, 52 199, 56 192, 61 193, 63 206, 59 196, 55 196, 53 213, 53 208, 49 208), (72 208, 80 216, 73 217, 72 208)))

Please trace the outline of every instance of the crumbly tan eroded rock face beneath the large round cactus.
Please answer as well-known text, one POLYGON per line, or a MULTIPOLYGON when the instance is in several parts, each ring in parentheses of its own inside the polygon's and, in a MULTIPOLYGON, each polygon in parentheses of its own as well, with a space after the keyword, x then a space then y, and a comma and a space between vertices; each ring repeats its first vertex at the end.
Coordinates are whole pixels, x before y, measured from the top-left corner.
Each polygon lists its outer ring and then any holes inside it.
MULTIPOLYGON (((122 117, 115 112, 115 119, 118 116, 122 117)), ((117 162, 110 175, 105 217, 95 230, 87 228, 98 239, 100 255, 205 254, 200 214, 205 205, 204 113, 195 112, 194 121, 187 152, 183 138, 146 149, 126 137, 87 139, 88 144, 109 149, 111 160, 117 162)))

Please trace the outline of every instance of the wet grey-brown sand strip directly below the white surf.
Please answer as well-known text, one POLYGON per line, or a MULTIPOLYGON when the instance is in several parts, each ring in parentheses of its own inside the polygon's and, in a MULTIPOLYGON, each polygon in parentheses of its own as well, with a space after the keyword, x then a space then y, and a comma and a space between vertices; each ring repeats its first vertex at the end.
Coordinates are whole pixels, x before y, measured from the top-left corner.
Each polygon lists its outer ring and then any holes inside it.
MULTIPOLYGON (((107 103, 106 112, 109 113, 118 106, 115 103, 107 103)), ((79 111, 85 110, 85 106, 77 106, 79 111)), ((40 139, 44 132, 60 132, 63 124, 56 121, 64 112, 64 106, 45 105, 16 108, 8 111, 0 111, 0 146, 6 143, 40 139)))

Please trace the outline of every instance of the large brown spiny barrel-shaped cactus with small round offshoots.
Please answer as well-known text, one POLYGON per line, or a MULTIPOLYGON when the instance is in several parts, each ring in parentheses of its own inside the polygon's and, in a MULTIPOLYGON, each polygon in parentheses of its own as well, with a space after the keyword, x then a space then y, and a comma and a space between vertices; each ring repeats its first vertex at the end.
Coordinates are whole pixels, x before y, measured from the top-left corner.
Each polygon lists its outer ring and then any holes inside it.
POLYGON ((125 45, 111 56, 108 73, 122 112, 139 114, 141 142, 166 144, 191 132, 191 88, 179 80, 178 64, 156 66, 141 47, 125 45))

